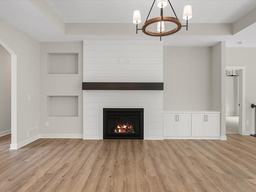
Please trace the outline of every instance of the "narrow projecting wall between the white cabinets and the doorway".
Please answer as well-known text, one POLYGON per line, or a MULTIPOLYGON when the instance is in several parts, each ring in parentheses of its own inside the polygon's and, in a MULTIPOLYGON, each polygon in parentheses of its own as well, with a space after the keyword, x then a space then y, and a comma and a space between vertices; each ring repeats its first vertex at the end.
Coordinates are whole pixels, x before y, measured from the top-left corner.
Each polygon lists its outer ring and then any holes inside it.
POLYGON ((220 136, 226 139, 226 42, 212 47, 212 110, 220 111, 220 136))

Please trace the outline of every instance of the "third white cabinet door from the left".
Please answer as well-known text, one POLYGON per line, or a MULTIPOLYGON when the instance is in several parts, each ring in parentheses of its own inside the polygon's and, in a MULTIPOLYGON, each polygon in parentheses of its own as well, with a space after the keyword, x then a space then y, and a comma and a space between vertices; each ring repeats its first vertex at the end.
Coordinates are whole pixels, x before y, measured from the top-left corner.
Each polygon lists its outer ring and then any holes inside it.
POLYGON ((205 136, 205 114, 192 114, 191 135, 205 136))

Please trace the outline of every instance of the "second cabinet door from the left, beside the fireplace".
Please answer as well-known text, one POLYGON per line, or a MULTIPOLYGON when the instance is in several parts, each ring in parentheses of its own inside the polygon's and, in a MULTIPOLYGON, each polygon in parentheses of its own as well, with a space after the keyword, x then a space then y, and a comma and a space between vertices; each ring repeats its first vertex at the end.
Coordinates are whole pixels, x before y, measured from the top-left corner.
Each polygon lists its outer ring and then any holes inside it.
POLYGON ((178 114, 177 136, 191 136, 191 114, 178 114))

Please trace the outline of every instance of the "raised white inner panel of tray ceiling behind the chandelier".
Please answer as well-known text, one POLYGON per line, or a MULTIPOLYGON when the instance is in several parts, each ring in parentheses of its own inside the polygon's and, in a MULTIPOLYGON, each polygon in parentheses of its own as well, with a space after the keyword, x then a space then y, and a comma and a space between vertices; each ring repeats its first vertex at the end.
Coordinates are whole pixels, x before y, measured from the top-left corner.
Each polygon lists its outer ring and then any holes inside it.
MULTIPOLYGON (((66 23, 131 23, 134 10, 140 10, 146 20, 152 0, 47 0, 66 23)), ((178 18, 182 18, 184 6, 192 6, 192 23, 233 23, 256 7, 251 0, 171 0, 178 18)), ((170 6, 164 14, 171 14, 170 6)), ((153 8, 152 17, 159 17, 159 8, 153 8)))

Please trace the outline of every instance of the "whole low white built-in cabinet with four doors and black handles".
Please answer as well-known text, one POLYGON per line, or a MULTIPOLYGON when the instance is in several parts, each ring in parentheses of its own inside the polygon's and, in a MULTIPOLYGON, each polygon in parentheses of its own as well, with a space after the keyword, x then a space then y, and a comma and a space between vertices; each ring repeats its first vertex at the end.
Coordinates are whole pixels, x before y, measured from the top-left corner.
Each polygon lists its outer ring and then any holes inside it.
POLYGON ((220 112, 164 112, 164 138, 218 138, 220 137, 220 112))

